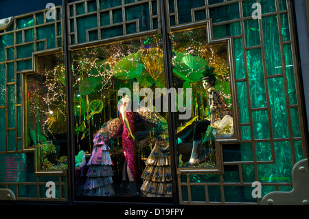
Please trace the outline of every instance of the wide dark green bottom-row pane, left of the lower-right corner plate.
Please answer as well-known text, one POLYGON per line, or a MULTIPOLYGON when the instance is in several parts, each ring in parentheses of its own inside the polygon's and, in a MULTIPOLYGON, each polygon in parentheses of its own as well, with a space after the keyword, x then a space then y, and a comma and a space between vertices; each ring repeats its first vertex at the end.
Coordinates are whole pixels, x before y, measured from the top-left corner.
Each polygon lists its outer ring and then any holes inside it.
POLYGON ((251 186, 229 186, 223 187, 225 202, 229 203, 256 203, 256 198, 252 197, 253 187, 251 186))

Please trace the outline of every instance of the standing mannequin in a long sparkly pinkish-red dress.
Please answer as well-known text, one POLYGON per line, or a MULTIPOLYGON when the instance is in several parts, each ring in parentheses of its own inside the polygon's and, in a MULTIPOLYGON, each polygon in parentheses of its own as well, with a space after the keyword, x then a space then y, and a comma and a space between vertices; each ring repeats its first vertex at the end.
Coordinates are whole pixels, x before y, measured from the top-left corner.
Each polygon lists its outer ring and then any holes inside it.
MULTIPOLYGON (((137 195, 136 191, 136 174, 137 174, 137 164, 136 164, 136 153, 135 153, 135 126, 134 126, 134 115, 133 112, 128 108, 128 103, 130 102, 130 97, 125 95, 122 97, 122 104, 118 106, 119 117, 122 119, 122 148, 124 149, 124 158, 126 163, 124 163, 124 170, 128 175, 129 184, 128 189, 133 196, 137 195), (126 166, 126 167, 125 167, 126 166)), ((123 180, 126 177, 123 174, 123 180)))

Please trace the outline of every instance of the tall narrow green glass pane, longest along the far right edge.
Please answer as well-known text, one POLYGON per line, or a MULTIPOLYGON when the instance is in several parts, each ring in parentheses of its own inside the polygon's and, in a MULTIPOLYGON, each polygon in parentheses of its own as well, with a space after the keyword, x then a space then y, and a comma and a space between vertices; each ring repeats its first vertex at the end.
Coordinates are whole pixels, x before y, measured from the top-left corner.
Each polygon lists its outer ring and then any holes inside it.
POLYGON ((288 82, 288 100, 290 105, 297 104, 295 75, 292 48, 290 44, 284 45, 284 60, 286 61, 286 81, 288 82))

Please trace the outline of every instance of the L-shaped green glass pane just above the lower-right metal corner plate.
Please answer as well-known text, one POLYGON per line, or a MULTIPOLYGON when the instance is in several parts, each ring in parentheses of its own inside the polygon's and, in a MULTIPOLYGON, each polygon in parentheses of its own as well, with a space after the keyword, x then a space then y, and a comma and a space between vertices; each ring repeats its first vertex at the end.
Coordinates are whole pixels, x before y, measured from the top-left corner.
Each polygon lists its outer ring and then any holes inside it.
POLYGON ((261 183, 292 182, 292 156, 289 141, 277 141, 275 146, 274 164, 258 164, 258 178, 261 183))

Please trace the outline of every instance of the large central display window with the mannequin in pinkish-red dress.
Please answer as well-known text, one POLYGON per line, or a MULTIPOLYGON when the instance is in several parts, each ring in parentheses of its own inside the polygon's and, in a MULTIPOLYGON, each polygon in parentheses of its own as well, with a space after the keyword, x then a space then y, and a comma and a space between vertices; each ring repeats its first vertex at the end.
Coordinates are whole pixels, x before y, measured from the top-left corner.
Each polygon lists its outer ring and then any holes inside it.
POLYGON ((160 37, 74 51, 76 195, 172 196, 160 37), (158 102, 159 101, 159 102, 158 102))

